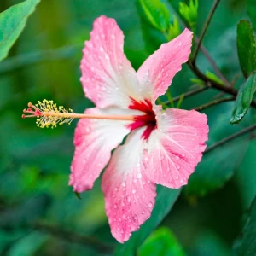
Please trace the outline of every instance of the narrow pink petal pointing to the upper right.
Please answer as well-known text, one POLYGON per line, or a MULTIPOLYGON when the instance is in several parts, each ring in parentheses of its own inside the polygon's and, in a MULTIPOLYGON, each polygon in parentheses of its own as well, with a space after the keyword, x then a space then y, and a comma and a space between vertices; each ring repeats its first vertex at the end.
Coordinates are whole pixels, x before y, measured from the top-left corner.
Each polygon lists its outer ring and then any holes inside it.
POLYGON ((154 101, 166 93, 173 77, 181 70, 181 65, 188 61, 191 44, 192 32, 186 28, 171 42, 162 44, 137 71, 137 78, 143 91, 149 90, 154 101), (152 88, 148 88, 148 84, 151 84, 152 88))

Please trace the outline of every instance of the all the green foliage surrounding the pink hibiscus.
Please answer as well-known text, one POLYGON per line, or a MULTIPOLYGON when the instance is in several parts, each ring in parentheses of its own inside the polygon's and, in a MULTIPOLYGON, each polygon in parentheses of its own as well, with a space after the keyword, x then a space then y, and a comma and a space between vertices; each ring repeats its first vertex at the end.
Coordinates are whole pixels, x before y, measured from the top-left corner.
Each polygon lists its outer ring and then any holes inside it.
POLYGON ((211 148, 256 123, 255 1, 219 3, 195 66, 183 65, 171 93, 160 97, 168 106, 170 99, 183 99, 185 109, 203 106, 210 150, 182 193, 158 187, 151 218, 125 244, 111 236, 101 181, 81 199, 67 186, 75 123, 42 131, 33 120, 20 118, 22 109, 44 98, 78 113, 92 106, 79 83, 79 61, 97 16, 117 20, 125 54, 137 69, 160 44, 183 31, 183 21, 199 38, 214 1, 39 2, 0 1, 0 60, 9 55, 0 63, 0 254, 254 255, 255 130, 211 148), (250 21, 241 20, 247 14, 250 21), (230 96, 236 102, 217 104, 230 96), (217 103, 206 107, 212 101, 217 103), (230 125, 231 115, 231 123, 242 122, 230 125), (166 228, 155 230, 158 225, 166 228))

